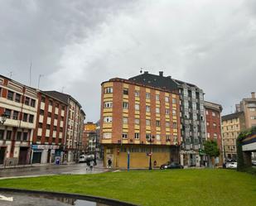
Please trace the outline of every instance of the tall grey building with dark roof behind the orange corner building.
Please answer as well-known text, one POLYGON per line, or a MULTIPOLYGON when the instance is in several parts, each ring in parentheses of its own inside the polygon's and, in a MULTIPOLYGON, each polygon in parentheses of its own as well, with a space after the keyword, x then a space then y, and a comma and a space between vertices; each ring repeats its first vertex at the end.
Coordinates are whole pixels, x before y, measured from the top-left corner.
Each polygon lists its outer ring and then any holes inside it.
POLYGON ((199 150, 203 149, 206 138, 203 90, 195 84, 172 79, 171 76, 164 77, 163 72, 159 72, 159 76, 144 72, 144 74, 130 78, 130 80, 133 79, 141 84, 162 88, 166 88, 167 84, 171 87, 170 89, 178 89, 181 99, 177 102, 181 111, 181 165, 203 165, 205 156, 199 153, 199 150))

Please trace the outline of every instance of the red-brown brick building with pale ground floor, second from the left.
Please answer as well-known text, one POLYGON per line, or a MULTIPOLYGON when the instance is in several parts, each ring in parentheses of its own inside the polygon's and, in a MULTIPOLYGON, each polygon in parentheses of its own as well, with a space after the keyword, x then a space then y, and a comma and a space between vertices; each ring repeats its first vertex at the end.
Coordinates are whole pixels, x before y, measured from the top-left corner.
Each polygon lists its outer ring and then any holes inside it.
POLYGON ((32 139, 32 163, 63 161, 68 104, 39 91, 36 128, 32 139))

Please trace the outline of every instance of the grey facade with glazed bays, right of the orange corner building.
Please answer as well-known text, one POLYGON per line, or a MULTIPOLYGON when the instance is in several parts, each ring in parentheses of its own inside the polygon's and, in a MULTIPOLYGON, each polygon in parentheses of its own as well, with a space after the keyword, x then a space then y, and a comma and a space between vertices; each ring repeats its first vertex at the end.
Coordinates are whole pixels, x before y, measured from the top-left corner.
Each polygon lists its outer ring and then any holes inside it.
POLYGON ((181 164, 186 166, 204 165, 205 107, 204 92, 195 84, 173 79, 181 96, 181 164))

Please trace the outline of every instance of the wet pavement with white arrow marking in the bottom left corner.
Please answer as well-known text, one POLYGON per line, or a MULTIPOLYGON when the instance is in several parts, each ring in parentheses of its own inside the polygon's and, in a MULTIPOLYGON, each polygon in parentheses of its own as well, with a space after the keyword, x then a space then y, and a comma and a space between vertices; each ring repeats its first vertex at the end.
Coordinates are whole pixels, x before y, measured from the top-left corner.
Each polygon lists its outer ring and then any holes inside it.
POLYGON ((56 198, 47 195, 1 193, 1 206, 107 206, 82 199, 56 198))

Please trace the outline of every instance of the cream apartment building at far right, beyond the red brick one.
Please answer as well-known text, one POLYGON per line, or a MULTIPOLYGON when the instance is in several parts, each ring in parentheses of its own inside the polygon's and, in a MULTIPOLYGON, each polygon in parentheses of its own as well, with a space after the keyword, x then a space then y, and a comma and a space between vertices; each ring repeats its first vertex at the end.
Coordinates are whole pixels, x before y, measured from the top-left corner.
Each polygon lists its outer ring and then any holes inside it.
POLYGON ((236 160, 236 139, 239 132, 246 128, 244 112, 223 116, 221 127, 225 159, 236 160))

